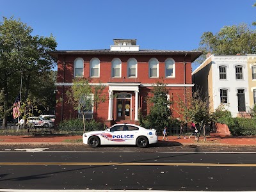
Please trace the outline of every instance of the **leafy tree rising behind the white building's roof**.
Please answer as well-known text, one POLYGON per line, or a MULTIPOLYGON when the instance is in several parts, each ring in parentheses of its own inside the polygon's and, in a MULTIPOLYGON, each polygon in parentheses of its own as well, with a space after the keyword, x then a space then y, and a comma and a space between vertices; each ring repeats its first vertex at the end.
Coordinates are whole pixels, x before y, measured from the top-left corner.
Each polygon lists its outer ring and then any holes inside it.
POLYGON ((256 30, 247 24, 224 26, 215 35, 211 31, 203 33, 197 51, 202 51, 194 64, 205 60, 208 52, 217 55, 256 54, 256 30))

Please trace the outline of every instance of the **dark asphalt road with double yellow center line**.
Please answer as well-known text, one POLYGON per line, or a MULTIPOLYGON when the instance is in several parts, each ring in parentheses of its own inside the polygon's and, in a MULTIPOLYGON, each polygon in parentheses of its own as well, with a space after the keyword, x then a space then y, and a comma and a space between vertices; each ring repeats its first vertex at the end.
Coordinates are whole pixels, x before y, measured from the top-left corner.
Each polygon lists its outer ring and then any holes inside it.
POLYGON ((256 153, 253 152, 203 152, 189 146, 193 151, 177 152, 175 147, 152 147, 143 149, 144 152, 137 147, 92 149, 81 145, 83 151, 74 145, 24 147, 1 146, 0 191, 6 188, 256 189, 256 153), (173 151, 164 151, 163 148, 172 148, 173 151))

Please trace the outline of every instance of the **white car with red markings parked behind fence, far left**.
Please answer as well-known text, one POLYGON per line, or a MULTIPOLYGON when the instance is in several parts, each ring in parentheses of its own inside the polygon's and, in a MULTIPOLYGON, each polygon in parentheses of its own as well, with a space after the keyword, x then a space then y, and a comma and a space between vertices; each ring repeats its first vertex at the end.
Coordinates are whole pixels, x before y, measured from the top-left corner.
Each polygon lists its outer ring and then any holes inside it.
MULTIPOLYGON (((23 125, 24 124, 24 120, 21 119, 19 121, 19 125, 23 125)), ((31 125, 33 127, 54 127, 54 122, 52 122, 51 120, 45 120, 42 117, 38 117, 38 116, 31 116, 29 118, 27 118, 27 124, 31 125)))

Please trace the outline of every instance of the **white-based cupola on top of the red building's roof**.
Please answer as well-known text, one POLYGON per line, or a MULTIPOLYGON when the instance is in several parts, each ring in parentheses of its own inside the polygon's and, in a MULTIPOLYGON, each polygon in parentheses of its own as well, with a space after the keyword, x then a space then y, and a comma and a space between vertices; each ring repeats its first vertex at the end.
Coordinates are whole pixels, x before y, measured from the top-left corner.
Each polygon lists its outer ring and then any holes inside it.
POLYGON ((110 45, 110 51, 139 51, 136 39, 113 39, 114 45, 110 45))

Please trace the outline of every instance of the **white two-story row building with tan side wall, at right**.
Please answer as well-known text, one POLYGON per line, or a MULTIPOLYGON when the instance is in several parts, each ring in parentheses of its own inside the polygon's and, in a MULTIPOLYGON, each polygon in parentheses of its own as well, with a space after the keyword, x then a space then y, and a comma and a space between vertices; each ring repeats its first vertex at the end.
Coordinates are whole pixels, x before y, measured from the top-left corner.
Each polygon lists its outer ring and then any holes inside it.
POLYGON ((211 55, 192 78, 209 97, 212 110, 223 104, 233 117, 250 115, 256 101, 255 55, 211 55))

